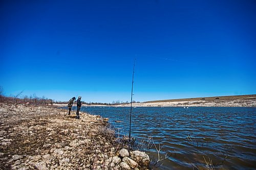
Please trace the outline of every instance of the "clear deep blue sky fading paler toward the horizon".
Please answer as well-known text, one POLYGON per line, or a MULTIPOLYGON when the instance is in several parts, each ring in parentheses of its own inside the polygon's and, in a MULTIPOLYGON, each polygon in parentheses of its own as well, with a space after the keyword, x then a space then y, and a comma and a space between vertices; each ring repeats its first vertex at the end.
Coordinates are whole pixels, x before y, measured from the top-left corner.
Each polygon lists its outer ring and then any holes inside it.
POLYGON ((5 94, 68 101, 256 93, 255 1, 1 1, 5 94))

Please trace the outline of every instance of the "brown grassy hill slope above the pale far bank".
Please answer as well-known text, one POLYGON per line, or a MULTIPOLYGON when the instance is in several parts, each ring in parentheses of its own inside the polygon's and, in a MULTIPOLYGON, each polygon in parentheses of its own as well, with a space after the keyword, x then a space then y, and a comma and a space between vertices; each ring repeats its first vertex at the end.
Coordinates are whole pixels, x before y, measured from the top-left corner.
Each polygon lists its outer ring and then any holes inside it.
POLYGON ((157 103, 157 102, 182 102, 182 101, 233 101, 233 100, 256 100, 256 94, 249 95, 228 95, 228 96, 214 96, 214 97, 202 97, 202 98, 188 98, 188 99, 170 99, 159 101, 147 101, 145 103, 157 103))

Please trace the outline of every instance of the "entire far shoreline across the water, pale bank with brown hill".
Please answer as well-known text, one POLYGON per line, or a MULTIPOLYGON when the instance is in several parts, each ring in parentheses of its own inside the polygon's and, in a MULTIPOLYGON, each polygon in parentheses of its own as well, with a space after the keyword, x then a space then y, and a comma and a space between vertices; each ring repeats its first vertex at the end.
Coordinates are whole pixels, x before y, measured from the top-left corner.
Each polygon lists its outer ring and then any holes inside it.
MULTIPOLYGON (((67 104, 53 104, 53 105, 60 106, 60 107, 67 106, 67 104)), ((120 105, 82 105, 82 106, 130 107, 131 103, 120 104, 120 105)), ((256 94, 149 101, 149 102, 143 102, 143 103, 133 103, 133 107, 256 107, 256 94)))

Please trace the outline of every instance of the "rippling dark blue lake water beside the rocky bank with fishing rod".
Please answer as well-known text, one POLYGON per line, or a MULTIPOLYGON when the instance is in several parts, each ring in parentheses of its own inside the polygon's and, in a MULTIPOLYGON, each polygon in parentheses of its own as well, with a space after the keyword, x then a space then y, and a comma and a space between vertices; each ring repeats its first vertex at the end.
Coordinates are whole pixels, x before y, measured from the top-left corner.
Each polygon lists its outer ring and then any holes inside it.
MULTIPOLYGON (((82 107, 81 111, 108 117, 120 134, 129 134, 129 107, 82 107)), ((153 136, 163 146, 161 156, 172 153, 158 169, 193 169, 193 164, 206 169, 209 160, 215 169, 256 167, 256 108, 137 107, 132 113, 132 136, 137 141, 153 136)), ((150 151, 157 158, 156 150, 150 151)))

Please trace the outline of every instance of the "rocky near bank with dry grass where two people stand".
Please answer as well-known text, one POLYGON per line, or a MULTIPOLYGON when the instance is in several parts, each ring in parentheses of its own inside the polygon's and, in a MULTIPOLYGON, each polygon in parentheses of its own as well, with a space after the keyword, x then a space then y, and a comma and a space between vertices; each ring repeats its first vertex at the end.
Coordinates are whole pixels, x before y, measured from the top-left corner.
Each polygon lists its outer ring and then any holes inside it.
POLYGON ((0 103, 0 169, 147 169, 144 152, 127 151, 107 118, 0 103))

